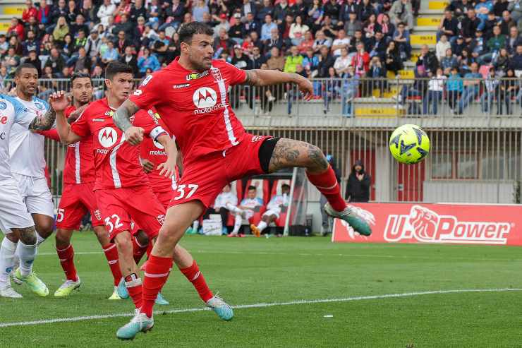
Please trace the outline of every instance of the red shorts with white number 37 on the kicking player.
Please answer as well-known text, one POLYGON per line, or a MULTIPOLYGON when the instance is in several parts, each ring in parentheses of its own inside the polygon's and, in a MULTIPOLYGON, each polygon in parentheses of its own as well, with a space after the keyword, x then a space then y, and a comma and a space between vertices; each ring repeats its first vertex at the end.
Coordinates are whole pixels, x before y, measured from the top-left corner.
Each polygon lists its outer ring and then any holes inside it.
POLYGON ((169 208, 190 200, 200 200, 208 208, 226 184, 244 176, 265 174, 259 161, 259 148, 269 138, 272 137, 246 134, 233 148, 212 152, 187 164, 169 208))

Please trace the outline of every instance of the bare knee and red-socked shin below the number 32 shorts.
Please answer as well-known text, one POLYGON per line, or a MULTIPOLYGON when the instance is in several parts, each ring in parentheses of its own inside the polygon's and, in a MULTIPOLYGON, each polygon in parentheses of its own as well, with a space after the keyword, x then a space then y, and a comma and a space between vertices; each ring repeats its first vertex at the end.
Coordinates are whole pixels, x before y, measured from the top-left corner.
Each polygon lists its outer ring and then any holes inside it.
POLYGON ((125 281, 125 287, 132 297, 135 308, 140 308, 142 305, 142 282, 138 275, 138 266, 133 257, 133 243, 130 232, 123 231, 116 234, 114 243, 118 248, 118 259, 121 269, 121 275, 125 281))

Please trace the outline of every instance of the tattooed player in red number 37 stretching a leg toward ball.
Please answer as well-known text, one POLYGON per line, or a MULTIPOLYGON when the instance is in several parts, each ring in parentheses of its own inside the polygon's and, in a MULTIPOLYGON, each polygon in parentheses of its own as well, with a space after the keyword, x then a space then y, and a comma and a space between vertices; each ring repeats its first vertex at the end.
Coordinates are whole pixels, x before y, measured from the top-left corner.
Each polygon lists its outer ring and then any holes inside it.
POLYGON ((145 267, 142 307, 130 323, 116 332, 121 339, 132 339, 138 332, 152 328, 154 299, 169 275, 174 247, 193 220, 231 181, 305 167, 310 182, 328 200, 327 213, 347 221, 360 234, 371 234, 368 223, 347 208, 335 173, 317 146, 248 134, 229 106, 227 91, 231 85, 294 83, 309 99, 313 93, 310 81, 296 73, 244 71, 225 61, 212 60, 213 33, 204 23, 182 25, 178 32, 181 55, 145 78, 113 116, 116 126, 125 131, 126 140, 138 144, 143 130, 129 119, 139 109, 156 107, 183 153, 183 176, 145 267))

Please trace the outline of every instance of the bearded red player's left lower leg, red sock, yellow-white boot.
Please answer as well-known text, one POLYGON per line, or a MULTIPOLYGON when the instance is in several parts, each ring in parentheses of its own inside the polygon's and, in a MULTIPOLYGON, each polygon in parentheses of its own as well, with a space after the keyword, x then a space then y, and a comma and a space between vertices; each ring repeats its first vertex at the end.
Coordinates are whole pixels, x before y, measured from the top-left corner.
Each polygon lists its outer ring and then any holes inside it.
POLYGON ((66 275, 66 281, 54 292, 56 297, 69 296, 71 292, 81 285, 80 277, 74 266, 74 248, 71 244, 72 229, 56 229, 56 253, 60 260, 61 268, 66 275))

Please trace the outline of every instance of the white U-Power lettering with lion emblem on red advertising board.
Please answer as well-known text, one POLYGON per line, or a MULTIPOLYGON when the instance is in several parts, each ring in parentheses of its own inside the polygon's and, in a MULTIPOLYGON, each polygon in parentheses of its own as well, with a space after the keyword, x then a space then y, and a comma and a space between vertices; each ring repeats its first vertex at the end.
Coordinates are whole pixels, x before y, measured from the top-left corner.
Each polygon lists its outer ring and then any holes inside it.
POLYGON ((459 221, 413 205, 409 215, 388 215, 384 240, 415 239, 424 243, 506 244, 513 224, 491 221, 459 221))

